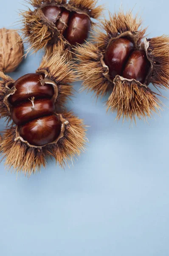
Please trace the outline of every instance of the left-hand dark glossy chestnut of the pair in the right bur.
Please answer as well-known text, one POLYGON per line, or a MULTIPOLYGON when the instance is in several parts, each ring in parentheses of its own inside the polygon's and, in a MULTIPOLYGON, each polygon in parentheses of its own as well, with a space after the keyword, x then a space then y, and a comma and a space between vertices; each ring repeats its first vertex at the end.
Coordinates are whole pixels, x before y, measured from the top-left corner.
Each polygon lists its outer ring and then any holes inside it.
POLYGON ((117 38, 108 45, 104 62, 109 67, 110 76, 113 78, 117 75, 121 76, 124 65, 133 50, 134 44, 127 38, 117 38))

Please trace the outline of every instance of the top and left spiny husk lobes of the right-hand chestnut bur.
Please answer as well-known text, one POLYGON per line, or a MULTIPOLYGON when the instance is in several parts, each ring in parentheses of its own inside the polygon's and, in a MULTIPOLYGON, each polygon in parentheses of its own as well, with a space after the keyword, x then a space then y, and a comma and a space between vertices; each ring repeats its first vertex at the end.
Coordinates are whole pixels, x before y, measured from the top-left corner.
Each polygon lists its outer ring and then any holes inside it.
POLYGON ((98 97, 113 88, 111 82, 103 76, 107 68, 101 64, 101 57, 110 39, 119 37, 124 32, 128 31, 137 36, 137 43, 139 43, 146 32, 146 29, 141 28, 141 24, 142 20, 138 19, 137 15, 133 17, 131 11, 124 14, 120 9, 114 15, 110 14, 109 20, 102 22, 102 31, 96 29, 96 34, 91 37, 91 41, 95 44, 89 42, 75 47, 76 57, 80 61, 77 73, 83 81, 84 89, 93 91, 98 97))

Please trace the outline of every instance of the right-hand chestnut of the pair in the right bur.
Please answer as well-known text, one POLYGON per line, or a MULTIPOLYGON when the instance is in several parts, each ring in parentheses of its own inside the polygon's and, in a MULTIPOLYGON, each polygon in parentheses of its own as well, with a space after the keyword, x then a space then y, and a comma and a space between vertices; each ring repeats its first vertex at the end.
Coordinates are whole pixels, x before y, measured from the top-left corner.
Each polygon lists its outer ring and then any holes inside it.
POLYGON ((143 84, 149 67, 150 63, 146 57, 146 52, 143 50, 135 50, 130 55, 122 76, 127 79, 135 79, 143 84))

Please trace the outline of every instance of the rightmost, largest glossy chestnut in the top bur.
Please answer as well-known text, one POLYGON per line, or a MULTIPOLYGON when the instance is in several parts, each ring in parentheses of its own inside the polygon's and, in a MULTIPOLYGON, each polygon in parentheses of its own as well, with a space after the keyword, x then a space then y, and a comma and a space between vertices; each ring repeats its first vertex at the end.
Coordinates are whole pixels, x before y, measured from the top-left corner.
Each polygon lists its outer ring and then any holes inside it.
POLYGON ((69 20, 65 38, 72 45, 83 44, 91 28, 90 18, 85 14, 74 13, 69 20))

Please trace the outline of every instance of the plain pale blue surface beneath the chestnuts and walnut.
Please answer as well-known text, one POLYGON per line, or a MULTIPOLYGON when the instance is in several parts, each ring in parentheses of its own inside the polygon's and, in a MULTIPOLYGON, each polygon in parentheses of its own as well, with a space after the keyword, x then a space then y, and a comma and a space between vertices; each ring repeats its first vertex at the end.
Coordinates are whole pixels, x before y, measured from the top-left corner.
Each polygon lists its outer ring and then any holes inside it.
MULTIPOLYGON (((18 20, 21 3, 3 1, 1 27, 18 20)), ((111 12, 120 6, 100 3, 111 12)), ((122 4, 127 10, 135 0, 122 4)), ((168 0, 137 1, 133 13, 138 11, 151 37, 169 34, 168 0)), ((29 55, 11 76, 34 72, 41 58, 42 52, 29 55)), ((74 87, 79 90, 81 83, 74 87)), ((163 95, 169 98, 169 91, 163 95)), ((115 113, 106 114, 106 97, 96 103, 92 93, 75 96, 68 109, 90 128, 87 151, 74 167, 64 171, 51 161, 30 179, 21 174, 16 180, 0 164, 0 255, 168 256, 169 109, 131 128, 114 121, 115 113)))

